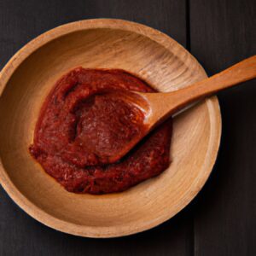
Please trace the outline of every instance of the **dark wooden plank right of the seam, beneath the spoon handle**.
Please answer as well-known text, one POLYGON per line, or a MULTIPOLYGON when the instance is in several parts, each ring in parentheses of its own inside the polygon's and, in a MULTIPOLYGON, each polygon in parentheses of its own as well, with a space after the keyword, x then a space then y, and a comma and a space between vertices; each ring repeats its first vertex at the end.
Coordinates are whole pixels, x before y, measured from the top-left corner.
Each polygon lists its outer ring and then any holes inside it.
MULTIPOLYGON (((255 1, 191 1, 191 51, 217 73, 256 53, 255 1)), ((218 163, 195 202, 195 255, 256 254, 256 82, 218 94, 218 163)))

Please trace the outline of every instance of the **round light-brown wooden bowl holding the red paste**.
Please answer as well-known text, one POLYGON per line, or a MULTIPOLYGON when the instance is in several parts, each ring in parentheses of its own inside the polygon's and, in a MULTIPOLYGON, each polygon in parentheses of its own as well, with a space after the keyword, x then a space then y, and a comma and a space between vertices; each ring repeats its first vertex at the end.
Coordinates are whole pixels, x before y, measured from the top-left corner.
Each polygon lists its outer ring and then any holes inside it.
POLYGON ((216 97, 174 119, 172 164, 123 193, 76 195, 28 153, 38 112, 56 79, 73 67, 123 68, 160 91, 207 77, 180 44, 125 20, 56 27, 20 49, 0 74, 0 181, 29 215, 77 236, 126 236, 172 218, 200 191, 216 160, 221 117, 216 97))

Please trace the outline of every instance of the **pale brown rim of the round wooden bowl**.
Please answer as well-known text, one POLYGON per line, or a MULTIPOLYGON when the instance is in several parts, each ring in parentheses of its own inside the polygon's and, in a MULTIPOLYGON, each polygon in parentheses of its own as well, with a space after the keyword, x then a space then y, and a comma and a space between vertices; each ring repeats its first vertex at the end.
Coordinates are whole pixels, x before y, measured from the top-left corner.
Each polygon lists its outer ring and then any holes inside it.
MULTIPOLYGON (((29 43, 23 46, 20 50, 18 50, 13 57, 7 62, 7 64, 3 67, 0 73, 0 97, 3 93, 3 90, 8 84, 9 79, 15 73, 15 70, 20 66, 20 64, 26 60, 26 58, 31 55, 34 51, 39 49, 40 47, 48 44, 50 41, 65 36, 72 32, 78 32, 86 29, 96 29, 96 28, 110 28, 110 29, 120 29, 130 32, 136 32, 142 34, 145 37, 148 37, 155 42, 163 45, 166 49, 170 49, 170 47, 177 47, 177 49, 182 49, 183 52, 187 53, 189 57, 198 64, 198 67, 201 68, 201 71, 205 73, 203 67, 198 63, 193 55, 183 48, 182 45, 178 44, 174 39, 167 36, 165 33, 160 32, 154 28, 149 26, 145 26, 133 21, 128 20, 118 20, 118 19, 91 19, 91 20, 79 20, 71 23, 67 23, 61 26, 57 26, 43 34, 39 35, 37 38, 32 39, 29 43)), ((191 60, 190 59, 190 60, 191 60)), ((205 73, 207 77, 207 74, 205 73)), ((170 212, 168 217, 160 216, 160 218, 153 219, 149 223, 142 223, 140 226, 123 226, 116 227, 114 230, 109 230, 108 227, 90 227, 84 225, 78 225, 69 223, 65 220, 61 220, 59 218, 55 218, 47 212, 44 212, 43 209, 37 207, 29 201, 26 196, 22 195, 20 190, 15 186, 15 184, 9 178, 7 172, 5 172, 3 163, 0 156, 0 183, 3 186, 3 189, 7 192, 10 198, 15 201, 15 203, 24 210, 28 215, 32 218, 37 219, 40 223, 49 226, 55 230, 62 231, 67 234, 72 234, 75 236, 84 236, 84 237, 119 237, 119 236, 128 236, 131 234, 135 234, 138 232, 142 232, 144 230, 149 230, 154 228, 155 226, 162 224, 166 220, 172 218, 177 212, 180 212, 184 207, 186 207, 190 201, 192 201, 199 193, 203 185, 206 183, 207 178, 212 172, 213 165, 216 161, 218 155, 218 148, 221 137, 221 113, 218 105, 218 99, 216 96, 213 96, 206 100, 208 104, 212 104, 211 108, 213 108, 214 123, 215 123, 215 138, 212 145, 212 157, 207 163, 207 172, 204 172, 200 178, 194 185, 194 188, 189 191, 189 195, 186 199, 181 202, 179 206, 177 206, 176 211, 170 212)))

